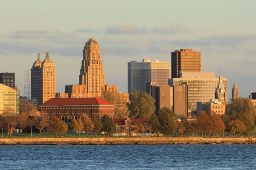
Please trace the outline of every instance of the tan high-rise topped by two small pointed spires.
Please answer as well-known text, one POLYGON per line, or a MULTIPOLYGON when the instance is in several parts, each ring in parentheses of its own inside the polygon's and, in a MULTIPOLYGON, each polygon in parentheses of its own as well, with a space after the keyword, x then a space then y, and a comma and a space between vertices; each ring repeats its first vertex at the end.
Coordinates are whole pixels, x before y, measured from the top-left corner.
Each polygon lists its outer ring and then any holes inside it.
POLYGON ((49 52, 42 62, 40 54, 31 68, 31 97, 38 99, 38 105, 55 98, 56 73, 55 65, 49 58, 49 52))

